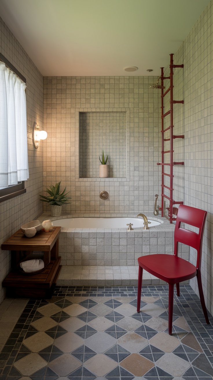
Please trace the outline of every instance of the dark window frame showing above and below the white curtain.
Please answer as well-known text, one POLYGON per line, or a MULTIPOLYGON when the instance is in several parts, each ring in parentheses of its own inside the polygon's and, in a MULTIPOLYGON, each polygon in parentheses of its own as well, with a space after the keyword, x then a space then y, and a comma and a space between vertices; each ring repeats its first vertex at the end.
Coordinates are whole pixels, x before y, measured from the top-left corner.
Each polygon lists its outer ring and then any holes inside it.
MULTIPOLYGON (((5 63, 5 65, 12 70, 23 82, 26 83, 26 78, 19 73, 19 71, 0 53, 0 60, 5 63)), ((27 190, 24 188, 24 181, 17 185, 11 185, 0 189, 0 202, 6 201, 7 199, 14 198, 15 196, 26 193, 27 190)))

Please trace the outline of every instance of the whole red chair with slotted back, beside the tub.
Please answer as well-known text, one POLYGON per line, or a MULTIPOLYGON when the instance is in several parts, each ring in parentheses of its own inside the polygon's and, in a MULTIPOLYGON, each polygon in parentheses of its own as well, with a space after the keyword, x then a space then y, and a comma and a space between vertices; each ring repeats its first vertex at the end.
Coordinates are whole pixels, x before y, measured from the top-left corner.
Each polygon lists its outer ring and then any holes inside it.
POLYGON ((176 284, 177 296, 180 296, 179 283, 181 281, 192 279, 195 276, 197 277, 200 302, 204 312, 205 320, 207 323, 210 323, 208 320, 207 309, 205 307, 200 274, 202 241, 206 217, 207 211, 180 205, 178 208, 174 232, 174 255, 156 254, 138 258, 139 273, 137 290, 137 312, 140 312, 142 275, 143 269, 145 269, 147 272, 169 283, 169 335, 172 335, 174 284, 176 284), (188 225, 197 227, 199 228, 199 232, 196 233, 186 230, 180 226, 180 223, 186 223, 188 225), (178 242, 189 245, 190 247, 197 250, 196 266, 178 257, 178 242))

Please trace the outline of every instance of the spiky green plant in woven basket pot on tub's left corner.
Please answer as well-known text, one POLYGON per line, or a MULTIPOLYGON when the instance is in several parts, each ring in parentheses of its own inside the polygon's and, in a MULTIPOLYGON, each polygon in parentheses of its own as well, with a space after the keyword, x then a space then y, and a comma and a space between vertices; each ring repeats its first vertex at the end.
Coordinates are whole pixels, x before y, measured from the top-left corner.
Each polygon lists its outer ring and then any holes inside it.
POLYGON ((48 196, 45 195, 39 195, 41 196, 40 201, 47 202, 50 205, 51 210, 51 216, 60 216, 62 212, 62 205, 71 203, 69 199, 71 199, 68 193, 65 193, 66 187, 63 190, 63 192, 60 192, 60 183, 58 182, 55 184, 55 186, 50 185, 49 188, 47 188, 46 192, 49 194, 48 196))

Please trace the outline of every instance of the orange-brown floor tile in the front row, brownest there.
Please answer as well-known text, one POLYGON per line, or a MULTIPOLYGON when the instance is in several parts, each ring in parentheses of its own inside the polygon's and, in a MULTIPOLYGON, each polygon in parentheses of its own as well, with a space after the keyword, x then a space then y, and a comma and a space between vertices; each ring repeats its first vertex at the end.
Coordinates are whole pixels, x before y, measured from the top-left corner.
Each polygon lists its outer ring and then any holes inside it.
POLYGON ((143 376, 154 367, 154 363, 143 356, 133 353, 120 362, 120 366, 135 376, 143 376))

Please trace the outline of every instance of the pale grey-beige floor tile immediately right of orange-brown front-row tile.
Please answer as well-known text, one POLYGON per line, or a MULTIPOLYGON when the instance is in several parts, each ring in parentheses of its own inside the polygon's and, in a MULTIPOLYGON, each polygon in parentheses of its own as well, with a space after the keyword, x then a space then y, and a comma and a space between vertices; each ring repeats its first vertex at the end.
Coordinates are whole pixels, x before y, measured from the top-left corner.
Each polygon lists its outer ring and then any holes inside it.
POLYGON ((167 353, 161 356, 155 364, 172 376, 181 376, 189 367, 191 367, 191 364, 188 361, 179 358, 173 353, 167 353))

